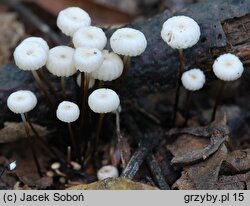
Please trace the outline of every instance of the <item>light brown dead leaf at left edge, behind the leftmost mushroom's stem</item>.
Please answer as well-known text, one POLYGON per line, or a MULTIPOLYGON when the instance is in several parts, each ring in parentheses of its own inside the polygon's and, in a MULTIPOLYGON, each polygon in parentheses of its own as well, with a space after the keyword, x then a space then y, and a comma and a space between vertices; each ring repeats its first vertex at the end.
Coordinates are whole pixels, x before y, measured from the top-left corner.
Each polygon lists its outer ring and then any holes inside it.
MULTIPOLYGON (((40 126, 38 124, 32 124, 35 128, 35 130, 38 132, 40 137, 46 137, 48 134, 48 131, 46 127, 40 126)), ((30 129, 30 134, 31 132, 30 129)), ((34 135, 34 134, 33 134, 34 135)), ((0 143, 10 143, 15 142, 19 139, 27 138, 23 123, 17 123, 17 122, 5 122, 4 128, 0 130, 0 143)))

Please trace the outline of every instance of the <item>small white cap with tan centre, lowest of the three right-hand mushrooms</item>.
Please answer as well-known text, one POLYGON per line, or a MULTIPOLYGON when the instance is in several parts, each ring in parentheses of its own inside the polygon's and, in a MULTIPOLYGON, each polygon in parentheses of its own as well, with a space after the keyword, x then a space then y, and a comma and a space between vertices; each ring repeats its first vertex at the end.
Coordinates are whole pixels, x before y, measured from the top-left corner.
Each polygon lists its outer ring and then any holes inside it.
POLYGON ((203 87, 206 78, 200 69, 190 69, 182 74, 181 81, 187 90, 196 91, 203 87))

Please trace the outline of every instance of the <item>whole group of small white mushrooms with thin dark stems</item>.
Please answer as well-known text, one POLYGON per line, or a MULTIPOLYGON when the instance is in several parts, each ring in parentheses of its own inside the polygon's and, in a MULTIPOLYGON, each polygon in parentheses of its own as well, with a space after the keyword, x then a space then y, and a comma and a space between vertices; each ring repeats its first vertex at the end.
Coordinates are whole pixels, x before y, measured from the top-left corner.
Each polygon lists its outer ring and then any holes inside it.
MULTIPOLYGON (((83 116, 84 120, 84 115, 88 113, 88 108, 90 108, 93 112, 100 114, 97 136, 100 135, 104 114, 113 112, 120 106, 118 94, 112 89, 103 87, 104 82, 125 78, 131 57, 141 55, 145 51, 147 40, 144 34, 136 29, 117 29, 110 38, 110 46, 113 51, 108 51, 105 49, 108 40, 104 31, 101 28, 91 26, 91 18, 88 13, 77 7, 62 10, 57 18, 57 26, 65 35, 71 37, 74 47, 56 46, 50 49, 42 38, 29 37, 16 47, 14 60, 21 70, 32 72, 41 91, 48 98, 52 112, 59 120, 68 124, 71 146, 75 148, 76 142, 71 123, 80 116, 83 116), (41 68, 44 66, 51 74, 61 78, 64 101, 57 105, 57 109, 53 105, 52 98, 58 99, 58 94, 42 71, 41 68), (75 74, 77 75, 77 84, 81 87, 80 108, 76 103, 67 101, 65 90, 64 78, 75 74), (99 88, 89 94, 89 89, 94 87, 96 80, 99 80, 99 88)), ((205 84, 205 75, 198 68, 185 71, 183 52, 184 49, 192 47, 198 42, 200 38, 199 25, 190 17, 174 16, 163 24, 161 37, 171 48, 179 50, 179 80, 183 86, 190 91, 201 89, 205 84)), ((215 60, 213 71, 219 79, 232 81, 241 76, 243 65, 235 55, 224 54, 215 60)), ((178 96, 179 94, 176 95, 177 104, 178 96)), ((28 90, 12 93, 7 101, 9 109, 21 115, 28 139, 31 138, 28 130, 30 129, 29 125, 32 126, 32 124, 27 113, 36 104, 35 94, 28 90)), ((84 124, 84 121, 81 123, 84 124)), ((37 170, 41 174, 35 149, 31 141, 30 143, 37 170)), ((117 177, 118 175, 117 168, 112 166, 105 166, 97 174, 99 179, 117 177)))

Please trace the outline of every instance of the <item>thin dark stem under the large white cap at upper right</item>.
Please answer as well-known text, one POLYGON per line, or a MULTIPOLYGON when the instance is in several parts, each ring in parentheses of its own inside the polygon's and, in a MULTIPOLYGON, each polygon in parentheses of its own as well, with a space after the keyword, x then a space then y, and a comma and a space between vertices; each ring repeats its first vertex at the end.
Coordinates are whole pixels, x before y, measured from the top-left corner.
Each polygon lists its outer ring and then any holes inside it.
POLYGON ((178 105, 179 105, 181 75, 183 74, 184 68, 185 68, 185 56, 183 53, 183 49, 179 49, 178 51, 179 51, 180 66, 178 70, 178 81, 176 85, 175 102, 174 102, 174 109, 173 109, 173 120, 172 120, 173 125, 175 125, 175 122, 176 122, 176 115, 177 115, 177 110, 178 110, 178 105))

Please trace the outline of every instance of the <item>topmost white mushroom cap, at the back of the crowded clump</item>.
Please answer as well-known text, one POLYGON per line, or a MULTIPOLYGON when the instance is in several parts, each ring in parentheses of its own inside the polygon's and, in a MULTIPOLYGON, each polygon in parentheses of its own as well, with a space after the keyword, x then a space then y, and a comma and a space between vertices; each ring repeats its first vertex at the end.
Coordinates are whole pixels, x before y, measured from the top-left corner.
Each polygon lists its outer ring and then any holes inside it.
POLYGON ((64 34, 72 37, 79 28, 89 26, 91 19, 81 8, 69 7, 59 12, 56 23, 64 34))

